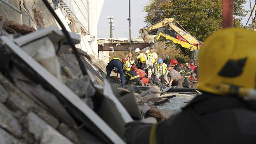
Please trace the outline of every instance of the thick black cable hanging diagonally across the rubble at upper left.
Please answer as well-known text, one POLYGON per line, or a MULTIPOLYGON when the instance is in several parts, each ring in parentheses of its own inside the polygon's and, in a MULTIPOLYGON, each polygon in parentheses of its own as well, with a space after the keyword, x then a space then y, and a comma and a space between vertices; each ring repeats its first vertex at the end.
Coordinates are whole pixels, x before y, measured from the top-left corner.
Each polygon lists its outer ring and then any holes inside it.
POLYGON ((81 60, 81 56, 80 54, 78 53, 78 50, 76 49, 75 47, 75 44, 73 42, 73 40, 71 39, 68 31, 66 30, 64 24, 62 24, 62 22, 60 21, 60 18, 57 16, 57 14, 54 12, 54 10, 52 9, 52 7, 50 6, 49 2, 47 0, 43 0, 45 6, 48 8, 48 10, 52 13, 53 17, 57 20, 58 24, 60 25, 60 27, 62 28, 62 32, 63 34, 66 36, 67 40, 68 40, 68 43, 70 44, 75 56, 76 56, 76 59, 78 61, 78 64, 80 66, 80 69, 82 71, 82 74, 83 75, 87 75, 87 72, 86 72, 86 69, 84 67, 84 64, 82 63, 82 60, 81 60))

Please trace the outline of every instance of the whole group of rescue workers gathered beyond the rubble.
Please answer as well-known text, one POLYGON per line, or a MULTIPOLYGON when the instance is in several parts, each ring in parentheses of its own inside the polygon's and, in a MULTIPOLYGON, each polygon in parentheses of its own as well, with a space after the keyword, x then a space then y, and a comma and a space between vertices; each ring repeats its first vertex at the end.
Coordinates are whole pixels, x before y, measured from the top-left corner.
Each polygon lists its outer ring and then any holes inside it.
POLYGON ((112 69, 116 68, 120 74, 121 84, 133 85, 165 85, 191 87, 191 82, 196 80, 198 68, 194 61, 186 63, 186 67, 178 64, 176 59, 171 60, 170 64, 165 64, 161 58, 158 58, 156 52, 151 47, 146 50, 146 54, 140 52, 139 48, 135 49, 136 58, 132 53, 127 58, 114 58, 107 65, 107 75, 110 76, 112 69))

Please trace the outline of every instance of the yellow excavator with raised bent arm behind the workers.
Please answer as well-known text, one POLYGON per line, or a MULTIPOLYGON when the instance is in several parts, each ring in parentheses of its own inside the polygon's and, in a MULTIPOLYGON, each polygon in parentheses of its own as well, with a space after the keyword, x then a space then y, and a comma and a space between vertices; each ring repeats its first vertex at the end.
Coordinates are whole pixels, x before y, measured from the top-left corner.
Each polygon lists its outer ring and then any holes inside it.
POLYGON ((140 36, 143 38, 145 42, 158 40, 161 36, 164 38, 171 40, 174 44, 179 44, 183 48, 188 48, 193 51, 192 60, 198 60, 198 52, 200 46, 203 44, 199 40, 196 40, 193 36, 189 34, 174 18, 164 18, 164 20, 160 20, 155 22, 150 26, 146 26, 140 29, 140 36), (171 36, 166 35, 160 32, 158 35, 149 35, 148 32, 150 30, 154 30, 157 28, 161 28, 163 26, 169 26, 172 28, 174 33, 171 36))

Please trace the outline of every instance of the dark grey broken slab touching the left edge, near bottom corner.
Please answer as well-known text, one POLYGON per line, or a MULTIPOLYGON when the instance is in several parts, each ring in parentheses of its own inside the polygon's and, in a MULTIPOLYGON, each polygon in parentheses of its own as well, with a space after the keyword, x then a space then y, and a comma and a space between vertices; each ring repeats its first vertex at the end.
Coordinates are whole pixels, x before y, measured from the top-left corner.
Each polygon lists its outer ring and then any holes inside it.
POLYGON ((0 126, 16 137, 22 136, 22 126, 12 112, 0 102, 0 126))

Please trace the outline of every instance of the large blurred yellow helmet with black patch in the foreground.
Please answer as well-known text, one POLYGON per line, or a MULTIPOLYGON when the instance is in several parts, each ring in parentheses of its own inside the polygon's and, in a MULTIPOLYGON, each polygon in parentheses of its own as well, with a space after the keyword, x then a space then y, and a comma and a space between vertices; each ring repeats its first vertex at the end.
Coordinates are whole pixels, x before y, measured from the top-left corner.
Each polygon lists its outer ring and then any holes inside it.
POLYGON ((256 99, 256 33, 229 28, 216 32, 199 52, 198 89, 256 99))

